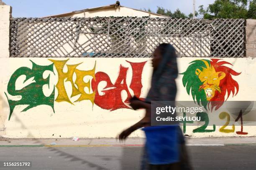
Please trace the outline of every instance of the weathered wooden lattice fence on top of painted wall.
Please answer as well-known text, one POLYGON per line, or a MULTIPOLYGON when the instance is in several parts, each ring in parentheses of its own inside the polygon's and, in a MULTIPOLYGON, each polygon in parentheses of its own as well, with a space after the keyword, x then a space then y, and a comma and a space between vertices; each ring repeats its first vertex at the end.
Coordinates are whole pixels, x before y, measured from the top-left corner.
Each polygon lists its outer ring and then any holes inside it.
POLYGON ((159 43, 180 57, 243 57, 244 20, 13 18, 11 57, 151 57, 159 43))

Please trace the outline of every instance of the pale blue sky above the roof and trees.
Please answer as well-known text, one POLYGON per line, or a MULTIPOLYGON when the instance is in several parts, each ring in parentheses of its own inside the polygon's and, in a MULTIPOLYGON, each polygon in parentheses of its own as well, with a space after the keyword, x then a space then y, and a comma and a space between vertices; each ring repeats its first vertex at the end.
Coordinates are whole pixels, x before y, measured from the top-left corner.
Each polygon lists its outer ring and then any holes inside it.
MULTIPOLYGON (((99 7, 115 3, 116 0, 3 0, 13 7, 13 17, 44 17, 74 10, 99 7)), ((136 9, 150 8, 156 12, 156 7, 164 7, 172 12, 179 8, 183 13, 193 11, 193 0, 119 0, 120 4, 136 9)), ((196 10, 199 5, 211 4, 214 0, 196 0, 196 10)))

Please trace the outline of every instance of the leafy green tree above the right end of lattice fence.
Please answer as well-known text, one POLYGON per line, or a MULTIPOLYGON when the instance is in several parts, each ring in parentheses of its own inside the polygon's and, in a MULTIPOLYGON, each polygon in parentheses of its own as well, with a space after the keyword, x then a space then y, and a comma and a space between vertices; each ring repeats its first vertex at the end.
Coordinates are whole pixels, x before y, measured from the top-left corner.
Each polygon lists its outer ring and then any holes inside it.
POLYGON ((256 18, 256 0, 215 0, 206 9, 199 7, 204 19, 215 18, 256 18))

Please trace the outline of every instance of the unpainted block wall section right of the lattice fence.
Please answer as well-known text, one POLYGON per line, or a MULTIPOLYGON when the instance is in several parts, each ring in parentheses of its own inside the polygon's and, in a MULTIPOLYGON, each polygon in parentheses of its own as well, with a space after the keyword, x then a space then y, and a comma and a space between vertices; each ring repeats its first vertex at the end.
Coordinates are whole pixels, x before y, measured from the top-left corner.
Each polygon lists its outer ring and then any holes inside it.
POLYGON ((246 57, 256 57, 256 20, 246 20, 246 57))

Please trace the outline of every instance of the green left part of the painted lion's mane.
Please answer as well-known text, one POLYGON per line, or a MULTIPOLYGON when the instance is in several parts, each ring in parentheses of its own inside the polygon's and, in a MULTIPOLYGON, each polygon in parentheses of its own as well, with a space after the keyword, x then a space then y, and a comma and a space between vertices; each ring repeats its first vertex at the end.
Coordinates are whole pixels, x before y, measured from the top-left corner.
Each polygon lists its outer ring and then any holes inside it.
MULTIPOLYGON (((207 61, 210 65, 210 60, 205 61, 207 61)), ((187 70, 183 73, 180 73, 181 75, 183 75, 183 86, 186 87, 188 95, 191 91, 194 102, 196 100, 198 105, 200 105, 201 102, 202 106, 207 110, 208 101, 206 99, 205 92, 204 90, 199 91, 199 87, 203 84, 203 82, 201 82, 198 76, 195 74, 197 68, 202 71, 202 67, 206 68, 206 65, 202 60, 194 60, 189 64, 190 65, 189 67, 187 67, 187 70)))

